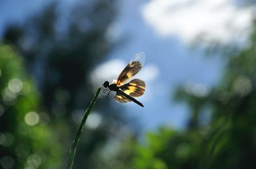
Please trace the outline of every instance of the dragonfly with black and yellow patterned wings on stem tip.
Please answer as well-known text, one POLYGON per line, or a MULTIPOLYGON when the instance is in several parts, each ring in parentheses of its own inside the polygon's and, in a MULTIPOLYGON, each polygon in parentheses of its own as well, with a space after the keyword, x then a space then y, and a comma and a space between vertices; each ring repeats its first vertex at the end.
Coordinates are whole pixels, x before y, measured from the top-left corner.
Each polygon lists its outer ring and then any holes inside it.
POLYGON ((129 64, 123 69, 123 71, 118 76, 117 80, 115 80, 111 85, 109 81, 105 81, 103 83, 105 90, 103 92, 108 92, 109 96, 111 91, 116 92, 116 96, 114 99, 117 102, 125 103, 133 101, 138 105, 144 107, 144 105, 135 99, 135 97, 140 97, 145 92, 145 82, 140 79, 133 79, 129 83, 125 83, 128 79, 136 75, 140 69, 142 68, 145 62, 145 54, 144 52, 139 52, 134 55, 129 64))

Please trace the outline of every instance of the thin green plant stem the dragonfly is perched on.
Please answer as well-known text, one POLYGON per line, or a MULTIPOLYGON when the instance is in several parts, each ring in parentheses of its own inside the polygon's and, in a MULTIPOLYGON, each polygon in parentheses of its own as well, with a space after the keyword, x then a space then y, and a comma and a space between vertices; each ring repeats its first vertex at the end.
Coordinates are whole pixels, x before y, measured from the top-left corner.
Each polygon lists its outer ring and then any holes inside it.
POLYGON ((82 118, 82 121, 77 129, 77 132, 76 132, 76 137, 73 141, 73 145, 72 145, 72 148, 70 150, 70 155, 69 155, 69 161, 68 161, 68 165, 67 165, 67 169, 71 169, 72 166, 73 166, 73 162, 74 162, 74 157, 75 157, 75 153, 76 153, 76 147, 77 147, 77 144, 79 142, 79 137, 81 135, 81 132, 82 132, 82 129, 83 129, 83 126, 84 124, 86 123, 86 119, 88 117, 88 115, 90 114, 91 110, 93 109, 93 106, 96 102, 96 100, 98 99, 99 97, 99 92, 101 90, 101 87, 98 88, 93 100, 91 101, 89 107, 87 108, 86 110, 86 114, 84 114, 83 118, 82 118))

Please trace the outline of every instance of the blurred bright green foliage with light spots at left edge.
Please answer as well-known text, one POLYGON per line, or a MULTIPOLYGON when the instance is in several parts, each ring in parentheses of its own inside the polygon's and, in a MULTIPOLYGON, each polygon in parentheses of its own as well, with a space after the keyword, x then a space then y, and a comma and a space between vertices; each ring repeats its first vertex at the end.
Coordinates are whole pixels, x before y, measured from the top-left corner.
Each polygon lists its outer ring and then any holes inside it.
POLYGON ((48 126, 49 115, 38 109, 40 96, 26 74, 23 58, 11 46, 0 46, 0 72, 1 165, 57 168, 62 146, 48 126))

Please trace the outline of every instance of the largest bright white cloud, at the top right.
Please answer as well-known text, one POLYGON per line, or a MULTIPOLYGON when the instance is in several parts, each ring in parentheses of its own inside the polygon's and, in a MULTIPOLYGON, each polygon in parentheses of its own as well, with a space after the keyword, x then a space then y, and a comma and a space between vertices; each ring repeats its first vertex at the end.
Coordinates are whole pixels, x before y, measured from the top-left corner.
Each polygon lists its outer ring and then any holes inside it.
POLYGON ((142 13, 161 36, 178 36, 188 43, 201 34, 224 43, 244 40, 252 20, 251 7, 238 8, 227 0, 152 0, 142 13))

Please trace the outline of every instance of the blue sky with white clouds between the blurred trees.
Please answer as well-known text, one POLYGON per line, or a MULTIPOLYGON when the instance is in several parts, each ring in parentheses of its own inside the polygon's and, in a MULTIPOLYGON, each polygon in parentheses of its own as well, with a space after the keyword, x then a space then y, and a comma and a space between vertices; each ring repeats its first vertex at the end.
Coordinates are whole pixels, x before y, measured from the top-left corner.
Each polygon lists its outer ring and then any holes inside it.
MULTIPOLYGON (((6 24, 22 22, 49 2, 0 1, 0 36, 6 24)), ((66 0, 63 6, 75 2, 66 0)), ((102 81, 117 78, 132 56, 144 51, 146 62, 136 78, 146 82, 145 94, 138 98, 145 107, 126 103, 123 104, 125 113, 137 118, 142 130, 156 129, 161 125, 182 129, 189 110, 185 104, 172 100, 177 85, 184 85, 195 94, 205 91, 201 94, 206 95, 220 79, 224 66, 221 57, 206 58, 203 50, 192 50, 190 44, 200 33, 205 39, 202 46, 210 40, 225 44, 244 42, 250 13, 251 9, 237 8, 225 0, 119 1, 117 19, 106 36, 113 42, 121 38, 127 38, 127 41, 108 55, 109 60, 95 68, 92 74, 97 78, 93 82, 97 88, 102 81), (108 76, 101 77, 104 67, 115 69, 109 71, 108 76)), ((111 104, 120 103, 113 100, 111 104)))

